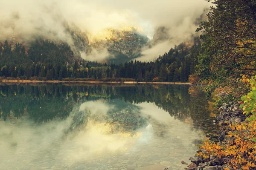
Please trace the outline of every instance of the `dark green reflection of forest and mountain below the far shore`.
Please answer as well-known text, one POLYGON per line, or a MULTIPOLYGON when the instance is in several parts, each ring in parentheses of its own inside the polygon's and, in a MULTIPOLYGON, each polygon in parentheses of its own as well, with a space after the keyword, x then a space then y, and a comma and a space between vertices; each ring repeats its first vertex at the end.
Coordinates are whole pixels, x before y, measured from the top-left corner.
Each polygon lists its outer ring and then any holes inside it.
MULTIPOLYGON (((169 116, 152 112, 151 105, 143 107, 147 103, 154 103, 180 121, 191 118, 194 127, 207 130, 212 124, 204 93, 186 85, 0 85, 0 119, 4 121, 20 117, 36 122, 63 120, 74 107, 79 106, 79 112, 90 111, 91 116, 108 119, 111 124, 121 124, 123 129, 135 130, 142 126, 145 116, 168 120, 169 116), (189 94, 190 91, 193 94, 189 94), (143 118, 139 112, 144 112, 143 118), (131 120, 133 124, 130 124, 131 120)), ((78 117, 79 113, 75 116, 78 117)), ((76 118, 75 121, 73 124, 83 124, 84 118, 76 118)))

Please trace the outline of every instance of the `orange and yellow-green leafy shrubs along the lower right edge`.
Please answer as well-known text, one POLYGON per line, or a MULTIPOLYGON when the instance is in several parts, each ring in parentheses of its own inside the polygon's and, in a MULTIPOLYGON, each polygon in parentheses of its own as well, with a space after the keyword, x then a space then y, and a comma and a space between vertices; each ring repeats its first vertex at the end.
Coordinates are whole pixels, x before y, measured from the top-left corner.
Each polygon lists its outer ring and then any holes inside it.
MULTIPOLYGON (((198 156, 209 158, 214 155, 225 160, 233 169, 252 170, 256 167, 256 76, 251 79, 243 75, 241 81, 250 86, 251 91, 241 97, 244 114, 249 116, 242 124, 230 124, 227 140, 221 143, 204 142, 198 156)), ((225 168, 229 170, 230 168, 225 168)))

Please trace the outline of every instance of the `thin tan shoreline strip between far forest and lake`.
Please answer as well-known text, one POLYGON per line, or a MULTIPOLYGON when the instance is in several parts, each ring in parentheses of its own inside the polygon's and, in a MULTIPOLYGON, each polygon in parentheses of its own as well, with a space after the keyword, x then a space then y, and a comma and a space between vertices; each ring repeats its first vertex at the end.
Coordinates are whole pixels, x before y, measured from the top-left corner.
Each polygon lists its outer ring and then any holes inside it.
POLYGON ((39 81, 39 80, 1 80, 2 83, 85 83, 85 84, 192 84, 181 82, 137 82, 137 81, 39 81))

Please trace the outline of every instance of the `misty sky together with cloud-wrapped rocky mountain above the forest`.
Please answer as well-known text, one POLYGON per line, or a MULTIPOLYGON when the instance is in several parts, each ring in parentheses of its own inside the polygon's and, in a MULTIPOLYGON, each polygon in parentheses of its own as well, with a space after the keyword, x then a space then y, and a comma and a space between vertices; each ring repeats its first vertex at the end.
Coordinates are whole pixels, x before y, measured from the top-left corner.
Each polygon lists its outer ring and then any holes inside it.
POLYGON ((202 0, 12 0, 0 11, 0 41, 68 44, 76 58, 122 63, 153 60, 191 39, 209 6, 202 0), (191 8, 194 6, 194 8, 191 8))

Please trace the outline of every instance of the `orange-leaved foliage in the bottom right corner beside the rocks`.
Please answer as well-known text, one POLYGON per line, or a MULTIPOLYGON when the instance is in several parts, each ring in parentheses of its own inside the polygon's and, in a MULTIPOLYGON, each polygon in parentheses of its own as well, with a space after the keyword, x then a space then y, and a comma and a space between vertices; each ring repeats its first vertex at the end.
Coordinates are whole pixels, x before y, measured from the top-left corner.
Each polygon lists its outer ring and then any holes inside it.
POLYGON ((228 158, 227 164, 233 169, 249 170, 256 164, 256 121, 244 124, 230 124, 232 131, 228 137, 233 139, 228 144, 212 143, 207 139, 201 146, 204 150, 198 153, 204 158, 215 155, 219 158, 228 158))

